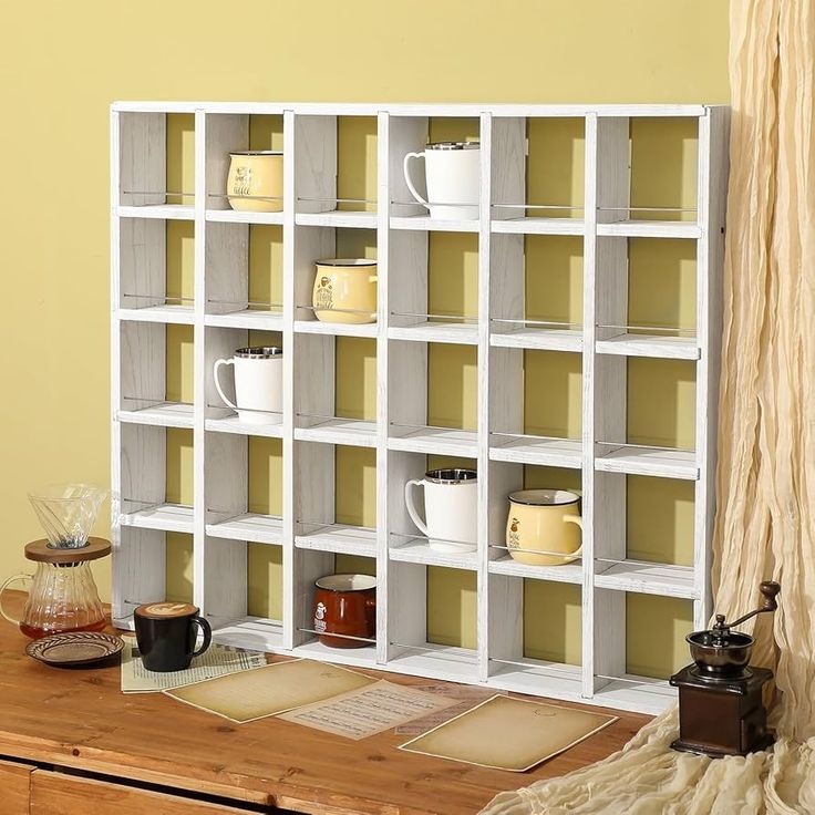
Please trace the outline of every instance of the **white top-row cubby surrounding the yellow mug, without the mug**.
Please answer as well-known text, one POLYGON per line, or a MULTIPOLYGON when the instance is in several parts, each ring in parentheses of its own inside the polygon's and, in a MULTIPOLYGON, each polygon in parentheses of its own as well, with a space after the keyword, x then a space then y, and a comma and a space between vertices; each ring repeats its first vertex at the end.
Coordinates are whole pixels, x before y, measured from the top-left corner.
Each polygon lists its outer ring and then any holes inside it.
POLYGON ((233 209, 227 197, 230 153, 248 149, 283 149, 282 110, 267 114, 207 113, 205 121, 206 220, 282 225, 282 198, 274 202, 279 205, 279 212, 251 213, 233 209))

